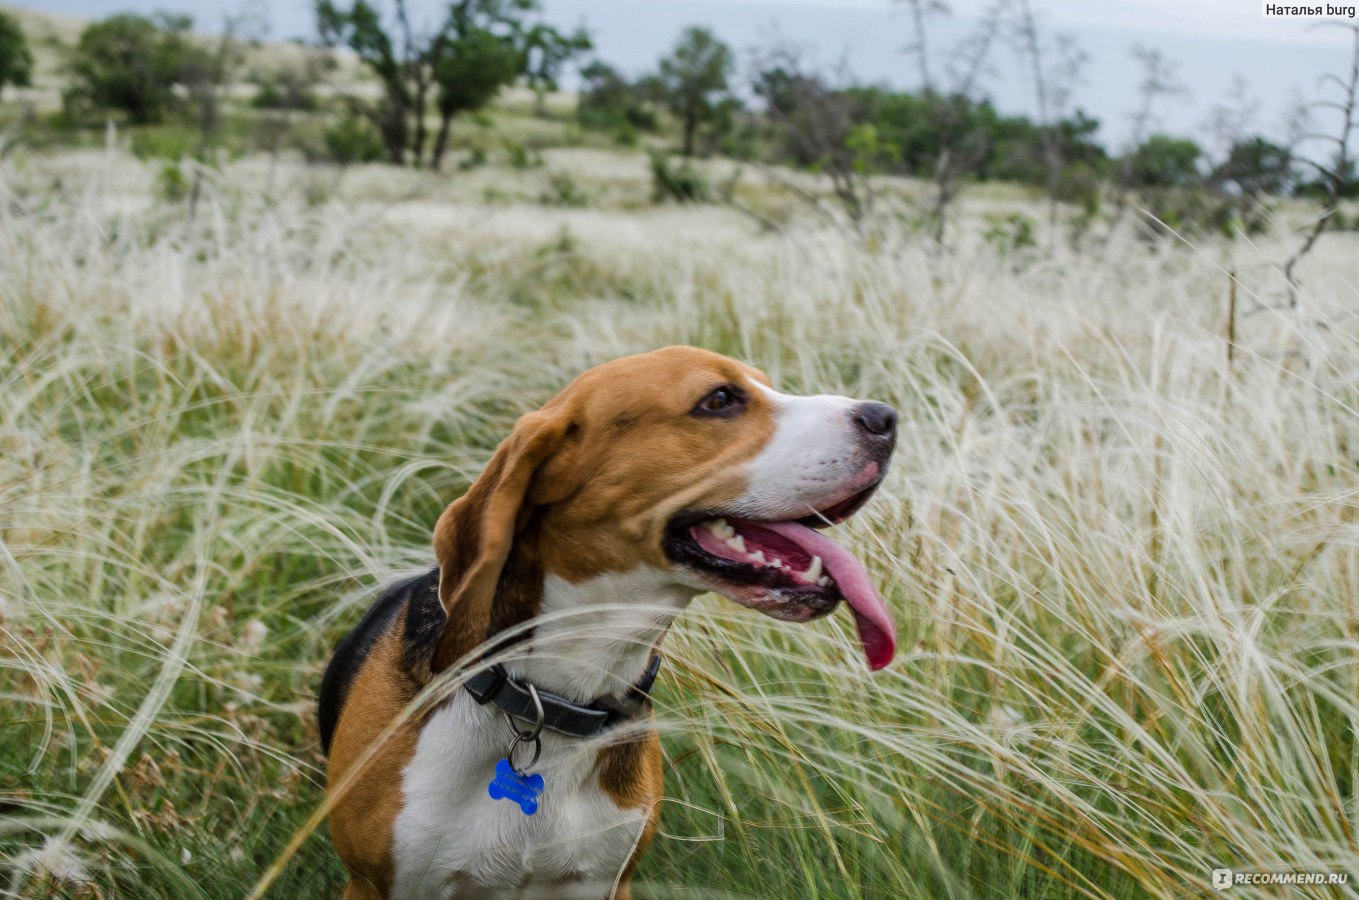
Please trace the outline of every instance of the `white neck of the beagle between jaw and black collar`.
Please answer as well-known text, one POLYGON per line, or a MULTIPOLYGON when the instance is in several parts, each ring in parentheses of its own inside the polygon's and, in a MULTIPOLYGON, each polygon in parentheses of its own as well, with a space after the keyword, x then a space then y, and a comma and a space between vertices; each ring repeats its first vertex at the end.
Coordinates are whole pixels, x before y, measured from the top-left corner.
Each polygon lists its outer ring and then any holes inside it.
POLYGON ((548 574, 529 653, 506 670, 580 703, 621 693, 693 597, 650 567, 578 583, 548 574))

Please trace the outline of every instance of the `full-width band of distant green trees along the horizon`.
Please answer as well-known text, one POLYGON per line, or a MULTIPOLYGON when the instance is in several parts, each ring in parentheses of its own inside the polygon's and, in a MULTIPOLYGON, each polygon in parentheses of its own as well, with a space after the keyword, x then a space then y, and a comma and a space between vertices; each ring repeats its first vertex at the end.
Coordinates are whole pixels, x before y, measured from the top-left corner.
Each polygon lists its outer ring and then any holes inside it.
MULTIPOLYGON (((1027 0, 995 0, 973 34, 945 49, 931 34, 939 4, 898 1, 915 31, 911 57, 920 87, 913 91, 860 83, 777 39, 752 53, 749 76, 738 83, 737 54, 701 27, 686 29, 654 71, 629 77, 603 60, 587 60, 590 34, 548 24, 538 0, 454 0, 435 7, 432 24, 417 23, 406 0, 315 0, 322 46, 351 50, 375 77, 376 95, 341 92, 321 103, 318 84, 336 65, 323 50, 296 65, 255 71, 249 80, 257 86, 266 145, 279 145, 294 117, 315 113, 329 124, 308 152, 438 170, 459 117, 477 114, 515 83, 531 88, 537 111, 546 114, 545 95, 576 67, 582 129, 624 144, 644 141, 654 152, 673 140, 684 158, 720 154, 776 178, 788 169, 824 175, 853 222, 871 209, 881 175, 921 179, 932 185, 925 218, 940 242, 959 188, 973 181, 1031 185, 1048 196, 1053 224, 1060 204, 1074 211, 1065 219, 1076 227, 1089 231, 1102 220, 1109 232, 1136 208, 1154 215, 1154 227, 1253 231, 1265 226, 1271 201, 1288 196, 1321 201, 1336 224, 1339 201, 1359 197, 1349 150, 1359 75, 1335 77, 1349 87, 1348 97, 1330 103, 1348 110, 1349 131, 1333 159, 1306 160, 1294 143, 1239 122, 1210 152, 1151 128, 1155 105, 1182 87, 1159 53, 1139 49, 1132 141, 1112 154, 1098 137, 1101 122, 1071 105, 1083 54, 1070 38, 1044 33, 1027 0), (1037 116, 1002 113, 978 88, 995 48, 1007 39, 1030 64, 1037 116)), ((166 14, 88 24, 69 58, 65 114, 116 111, 133 125, 190 121, 200 135, 194 155, 205 158, 224 88, 243 57, 231 27, 217 41, 190 29, 188 16, 166 14)), ((0 91, 29 84, 31 69, 22 29, 0 12, 0 91)), ((675 169, 662 154, 654 171, 662 194, 713 196, 689 163, 675 169)))

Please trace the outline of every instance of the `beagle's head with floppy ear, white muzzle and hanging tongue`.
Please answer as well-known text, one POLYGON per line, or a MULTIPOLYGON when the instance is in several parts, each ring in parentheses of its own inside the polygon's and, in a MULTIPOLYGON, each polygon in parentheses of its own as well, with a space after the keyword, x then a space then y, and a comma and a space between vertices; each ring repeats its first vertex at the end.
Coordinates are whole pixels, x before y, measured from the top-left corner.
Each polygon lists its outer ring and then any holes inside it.
POLYGON ((435 668, 535 615, 545 574, 583 582, 639 567, 791 621, 844 600, 870 666, 887 665, 886 606, 818 529, 872 495, 896 423, 885 404, 783 394, 764 373, 690 347, 586 371, 523 416, 439 518, 439 597, 455 627, 435 668))

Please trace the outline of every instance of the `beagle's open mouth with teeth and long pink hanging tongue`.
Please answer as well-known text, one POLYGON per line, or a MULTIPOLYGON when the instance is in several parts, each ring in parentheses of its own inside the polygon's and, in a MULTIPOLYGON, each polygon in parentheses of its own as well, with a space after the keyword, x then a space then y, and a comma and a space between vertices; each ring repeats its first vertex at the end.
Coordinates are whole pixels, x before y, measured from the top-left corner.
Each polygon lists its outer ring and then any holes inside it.
POLYGON ((741 518, 720 510, 677 515, 665 551, 733 601, 786 621, 810 621, 845 601, 868 668, 882 669, 896 653, 896 625, 863 563, 819 529, 853 515, 878 483, 796 519, 741 518))

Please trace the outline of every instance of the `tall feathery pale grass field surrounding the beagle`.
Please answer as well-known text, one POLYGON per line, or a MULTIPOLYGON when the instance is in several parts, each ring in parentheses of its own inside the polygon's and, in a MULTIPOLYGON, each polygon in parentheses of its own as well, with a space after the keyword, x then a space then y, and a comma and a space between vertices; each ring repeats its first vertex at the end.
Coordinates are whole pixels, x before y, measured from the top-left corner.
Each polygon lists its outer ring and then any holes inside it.
MULTIPOLYGON (((8 892, 247 893, 322 802, 315 688, 372 590, 431 561, 519 413, 670 343, 897 405, 889 483, 841 530, 902 653, 868 676, 845 616, 697 604, 639 893, 1359 880, 1354 235, 1229 364, 1226 272, 1273 303, 1276 246, 935 254, 385 169, 326 200, 251 160, 189 218, 154 177, 0 163, 8 892)), ((317 831, 270 896, 341 882, 317 831)))

